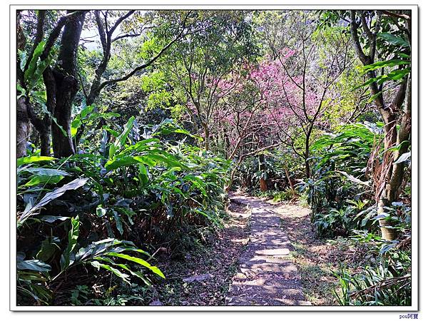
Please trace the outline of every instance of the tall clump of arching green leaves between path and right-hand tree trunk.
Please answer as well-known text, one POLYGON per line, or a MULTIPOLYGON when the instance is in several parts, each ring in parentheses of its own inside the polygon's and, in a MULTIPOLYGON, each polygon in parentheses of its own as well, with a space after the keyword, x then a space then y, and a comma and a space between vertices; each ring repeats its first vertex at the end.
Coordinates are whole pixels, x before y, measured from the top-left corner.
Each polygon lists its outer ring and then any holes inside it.
POLYGON ((313 143, 317 155, 313 175, 300 188, 307 190, 319 235, 347 235, 353 228, 371 227, 375 211, 369 206, 365 166, 372 144, 382 138, 381 131, 375 124, 353 123, 313 143))

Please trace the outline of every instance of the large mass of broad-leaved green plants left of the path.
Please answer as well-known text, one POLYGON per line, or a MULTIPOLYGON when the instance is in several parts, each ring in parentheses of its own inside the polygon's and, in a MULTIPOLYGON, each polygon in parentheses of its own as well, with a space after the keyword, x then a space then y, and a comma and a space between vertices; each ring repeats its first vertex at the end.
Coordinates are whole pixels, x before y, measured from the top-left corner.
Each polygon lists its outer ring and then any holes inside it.
POLYGON ((134 125, 131 118, 121 133, 104 128, 98 151, 19 158, 19 304, 76 301, 71 287, 91 285, 100 269, 150 284, 164 277, 149 263, 155 245, 180 250, 199 228, 221 225, 228 162, 163 139, 190 136, 170 121, 141 141, 134 125))

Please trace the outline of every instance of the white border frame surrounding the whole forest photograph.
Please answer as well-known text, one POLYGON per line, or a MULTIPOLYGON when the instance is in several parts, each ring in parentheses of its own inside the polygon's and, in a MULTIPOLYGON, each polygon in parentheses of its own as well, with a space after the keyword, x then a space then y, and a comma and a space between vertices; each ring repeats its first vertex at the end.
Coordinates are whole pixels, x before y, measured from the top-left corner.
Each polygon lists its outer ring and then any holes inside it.
MULTIPOLYGON (((220 2, 220 1, 219 1, 220 2)), ((221 1, 223 3, 223 1, 221 1)), ((122 5, 56 5, 56 4, 11 4, 9 6, 9 102, 10 102, 10 188, 9 188, 9 250, 10 250, 10 270, 9 270, 9 309, 11 311, 384 311, 384 312, 417 312, 419 310, 419 16, 416 4, 406 5, 329 5, 329 4, 296 4, 296 5, 243 5, 243 4, 122 4, 122 5), (17 306, 16 305, 16 14, 18 9, 258 9, 258 10, 310 10, 310 9, 407 9, 412 11, 412 305, 393 307, 343 307, 343 306, 17 306), (416 111, 416 113, 414 113, 416 111), (416 209, 416 212, 415 212, 416 209), (416 238, 414 235, 416 234, 416 238)))

